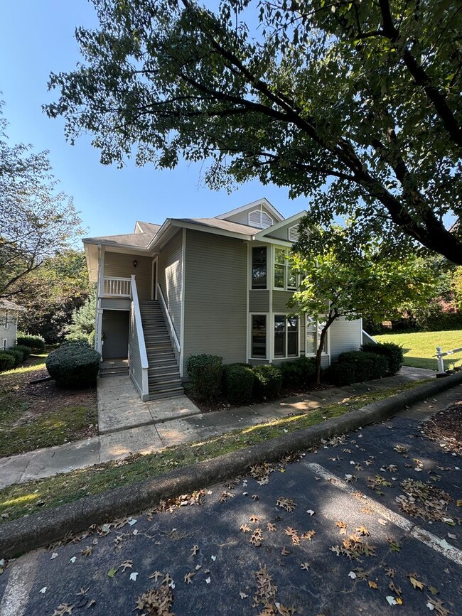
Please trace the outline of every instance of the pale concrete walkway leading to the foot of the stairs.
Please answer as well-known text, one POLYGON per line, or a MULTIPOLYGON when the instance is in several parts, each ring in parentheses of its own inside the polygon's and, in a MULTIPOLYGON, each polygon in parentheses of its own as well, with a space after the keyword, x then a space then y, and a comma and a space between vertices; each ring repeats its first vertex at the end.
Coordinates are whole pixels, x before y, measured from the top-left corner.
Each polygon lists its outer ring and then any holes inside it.
POLYGON ((355 394, 431 377, 435 377, 431 370, 403 367, 394 377, 212 413, 202 413, 187 396, 143 402, 127 376, 98 379, 100 436, 1 458, 0 489, 134 453, 154 453, 172 445, 220 436, 274 418, 346 402, 355 394))

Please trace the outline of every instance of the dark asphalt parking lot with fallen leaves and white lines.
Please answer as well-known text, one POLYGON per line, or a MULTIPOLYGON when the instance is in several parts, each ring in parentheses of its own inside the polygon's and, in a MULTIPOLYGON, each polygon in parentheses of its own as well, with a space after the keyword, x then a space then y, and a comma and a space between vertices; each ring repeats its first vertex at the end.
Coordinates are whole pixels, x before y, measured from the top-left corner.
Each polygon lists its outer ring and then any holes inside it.
POLYGON ((29 553, 0 576, 0 616, 461 615, 462 460, 419 427, 461 393, 275 465, 267 483, 241 477, 202 505, 29 553), (414 502, 400 508, 403 481, 414 502))

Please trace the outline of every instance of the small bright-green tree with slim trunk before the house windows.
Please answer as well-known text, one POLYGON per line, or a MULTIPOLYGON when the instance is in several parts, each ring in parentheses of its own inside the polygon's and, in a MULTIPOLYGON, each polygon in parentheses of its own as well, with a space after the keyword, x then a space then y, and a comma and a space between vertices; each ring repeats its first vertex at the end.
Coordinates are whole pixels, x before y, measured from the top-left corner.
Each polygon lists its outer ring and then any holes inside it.
POLYGON ((301 288, 289 306, 318 319, 316 382, 328 330, 338 318, 370 321, 396 318, 412 306, 425 306, 439 285, 438 274, 414 254, 390 255, 389 246, 368 241, 351 244, 348 225, 303 234, 294 247, 301 288))

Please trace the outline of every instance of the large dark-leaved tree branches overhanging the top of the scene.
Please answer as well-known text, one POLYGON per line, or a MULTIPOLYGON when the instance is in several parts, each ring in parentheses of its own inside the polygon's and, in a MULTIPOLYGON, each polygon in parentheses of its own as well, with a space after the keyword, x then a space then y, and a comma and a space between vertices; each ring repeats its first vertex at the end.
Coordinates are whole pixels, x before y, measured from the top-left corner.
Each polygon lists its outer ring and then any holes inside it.
POLYGON ((90 131, 120 166, 208 159, 212 187, 286 186, 311 223, 462 264, 460 4, 92 1, 82 63, 50 77, 71 143, 90 131))

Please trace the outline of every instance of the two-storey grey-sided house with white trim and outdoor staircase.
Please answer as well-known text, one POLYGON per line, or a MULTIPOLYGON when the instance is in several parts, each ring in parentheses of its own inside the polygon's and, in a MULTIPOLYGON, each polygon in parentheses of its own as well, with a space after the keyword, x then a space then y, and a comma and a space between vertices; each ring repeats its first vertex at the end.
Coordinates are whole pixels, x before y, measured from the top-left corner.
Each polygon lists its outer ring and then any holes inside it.
MULTIPOLYGON (((262 199, 215 218, 136 222, 134 233, 84 239, 97 282, 95 348, 129 358, 142 399, 180 394, 190 355, 279 363, 316 351, 316 319, 289 316, 289 251, 306 212, 262 199)), ((329 329, 323 365, 358 350, 361 320, 329 329)))

